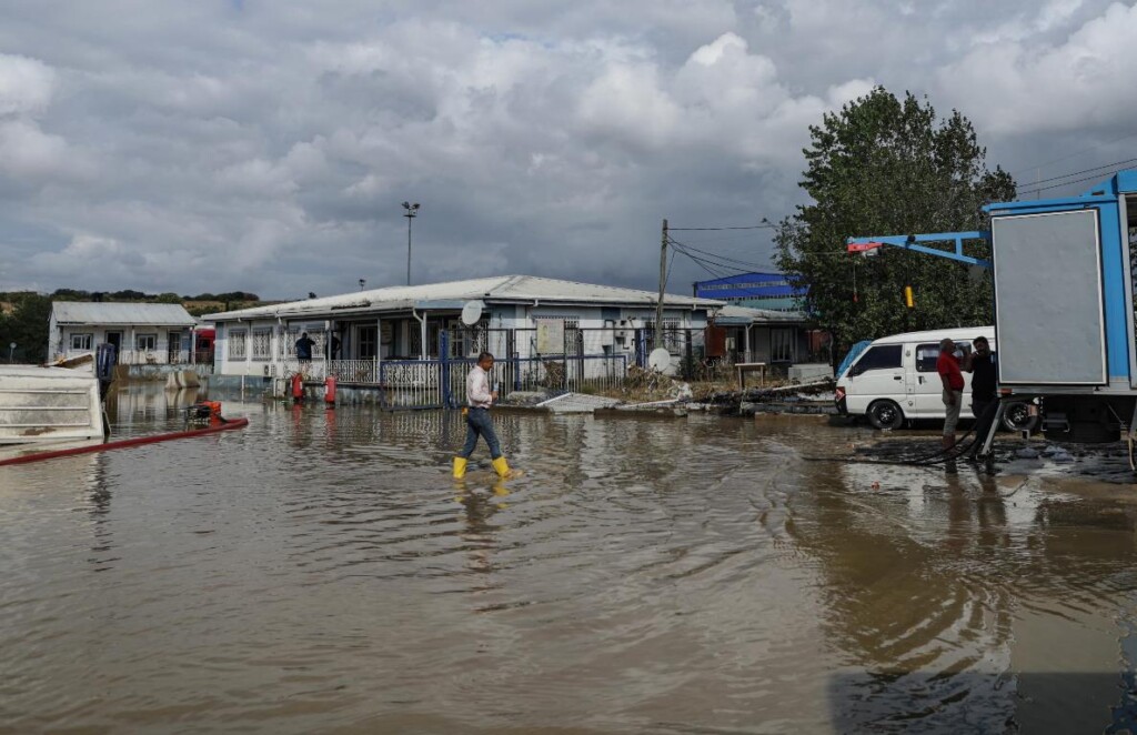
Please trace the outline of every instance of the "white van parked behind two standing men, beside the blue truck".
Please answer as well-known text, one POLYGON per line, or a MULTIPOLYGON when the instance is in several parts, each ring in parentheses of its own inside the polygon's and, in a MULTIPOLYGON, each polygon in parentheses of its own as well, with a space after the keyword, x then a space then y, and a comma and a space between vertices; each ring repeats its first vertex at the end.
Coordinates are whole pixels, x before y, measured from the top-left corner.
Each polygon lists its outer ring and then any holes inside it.
MULTIPOLYGON (((991 352, 998 352, 994 327, 939 329, 893 335, 873 341, 837 379, 837 410, 852 416, 865 416, 877 429, 896 429, 914 419, 940 419, 944 411, 944 382, 936 372, 939 342, 944 338, 960 347, 974 349, 977 337, 986 337, 991 352)), ((960 416, 971 413, 971 373, 963 373, 963 406, 960 416)), ((1029 420, 1026 404, 1007 408, 1004 423, 1012 429, 1029 420)))

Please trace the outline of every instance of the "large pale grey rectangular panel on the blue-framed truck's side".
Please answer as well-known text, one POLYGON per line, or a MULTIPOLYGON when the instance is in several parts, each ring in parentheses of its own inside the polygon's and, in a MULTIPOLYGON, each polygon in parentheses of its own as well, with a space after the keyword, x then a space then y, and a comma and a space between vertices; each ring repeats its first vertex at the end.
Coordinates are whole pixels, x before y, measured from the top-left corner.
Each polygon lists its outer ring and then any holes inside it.
POLYGON ((991 220, 999 382, 1106 382, 1097 210, 991 220))

